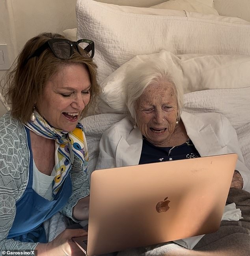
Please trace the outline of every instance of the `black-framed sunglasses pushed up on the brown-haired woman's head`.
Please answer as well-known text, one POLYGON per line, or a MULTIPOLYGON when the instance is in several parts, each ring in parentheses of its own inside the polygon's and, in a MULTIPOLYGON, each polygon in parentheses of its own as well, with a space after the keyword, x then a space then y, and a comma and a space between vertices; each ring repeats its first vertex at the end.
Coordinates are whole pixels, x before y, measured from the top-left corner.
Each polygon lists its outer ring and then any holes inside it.
POLYGON ((41 55, 41 53, 47 48, 50 48, 56 58, 67 60, 73 55, 74 47, 82 56, 89 56, 90 58, 93 58, 95 54, 95 45, 91 40, 80 39, 75 42, 65 38, 54 38, 49 39, 36 49, 35 52, 26 59, 25 63, 27 63, 31 58, 41 55))

